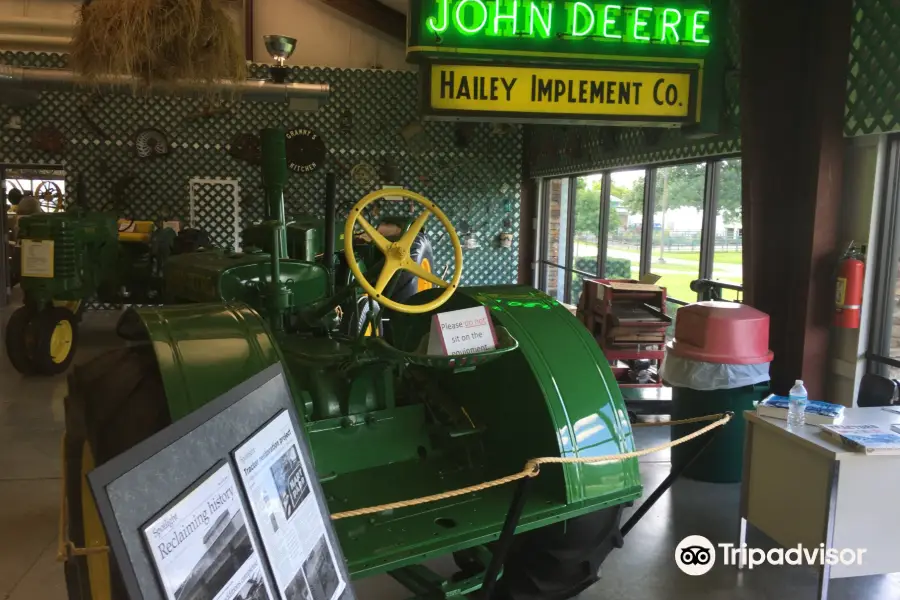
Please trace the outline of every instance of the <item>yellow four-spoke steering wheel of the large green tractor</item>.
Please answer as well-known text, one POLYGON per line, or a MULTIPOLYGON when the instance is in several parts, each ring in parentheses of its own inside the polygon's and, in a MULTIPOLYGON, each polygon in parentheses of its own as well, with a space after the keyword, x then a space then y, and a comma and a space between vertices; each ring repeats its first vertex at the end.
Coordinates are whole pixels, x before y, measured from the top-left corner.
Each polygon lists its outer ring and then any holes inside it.
POLYGON ((395 188, 378 190, 372 192, 353 205, 353 208, 350 209, 350 215, 347 217, 347 225, 344 227, 344 257, 347 259, 347 264, 350 266, 350 271, 353 272, 353 276, 356 277, 356 280, 370 297, 377 300, 382 306, 386 306, 402 313, 419 314, 440 307, 449 300, 450 296, 453 295, 453 292, 456 291, 456 288, 459 285, 459 278, 462 276, 462 246, 459 243, 459 236, 456 235, 456 230, 453 229, 453 225, 450 224, 450 219, 448 219, 447 215, 437 207, 437 204, 424 196, 415 192, 410 192, 409 190, 395 188), (362 214, 363 209, 369 204, 389 196, 400 196, 402 198, 408 198, 409 200, 415 200, 425 207, 422 214, 413 221, 406 233, 404 233, 396 242, 391 242, 381 235, 381 233, 372 227, 372 224, 369 223, 362 214), (434 214, 434 216, 436 216, 444 225, 447 229, 447 233, 450 234, 450 241, 453 243, 453 256, 456 268, 453 271, 453 278, 449 283, 437 275, 426 271, 419 263, 410 257, 410 248, 413 240, 416 239, 416 236, 422 230, 422 226, 425 225, 425 221, 428 220, 428 216, 431 214, 434 214), (356 223, 360 224, 363 230, 369 234, 375 247, 384 254, 384 267, 381 269, 381 274, 378 275, 378 281, 375 282, 374 286, 363 276, 362 271, 359 269, 359 265, 356 263, 356 255, 353 253, 353 228, 356 223), (425 304, 402 304, 385 297, 383 295, 384 288, 387 287, 387 284, 391 281, 391 277, 393 277, 394 273, 397 271, 404 270, 409 271, 420 279, 425 279, 434 285, 444 288, 443 293, 431 302, 425 304))

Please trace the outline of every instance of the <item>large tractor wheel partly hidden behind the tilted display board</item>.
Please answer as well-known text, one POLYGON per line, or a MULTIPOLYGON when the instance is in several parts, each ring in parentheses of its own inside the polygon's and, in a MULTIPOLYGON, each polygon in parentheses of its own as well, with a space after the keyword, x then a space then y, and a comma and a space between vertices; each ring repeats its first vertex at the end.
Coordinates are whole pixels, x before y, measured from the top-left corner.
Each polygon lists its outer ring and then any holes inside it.
MULTIPOLYGON (((76 366, 65 407, 66 533, 76 548, 106 546, 85 476, 171 422, 152 346, 112 350, 76 366)), ((69 600, 128 598, 109 553, 69 557, 65 578, 69 600)))

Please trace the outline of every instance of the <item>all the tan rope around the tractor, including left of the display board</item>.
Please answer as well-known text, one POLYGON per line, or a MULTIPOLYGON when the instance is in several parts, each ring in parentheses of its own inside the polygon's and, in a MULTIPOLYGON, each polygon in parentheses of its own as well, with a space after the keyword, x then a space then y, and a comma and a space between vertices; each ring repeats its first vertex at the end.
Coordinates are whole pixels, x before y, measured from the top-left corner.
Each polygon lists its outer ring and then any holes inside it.
MULTIPOLYGON (((387 504, 379 504, 376 506, 368 506, 366 508, 357 508, 354 510, 346 510, 343 512, 332 513, 331 520, 337 521, 340 519, 348 519, 350 517, 361 517, 364 515, 371 515, 379 512, 384 512, 387 510, 394 510, 398 508, 407 508, 410 506, 418 506, 420 504, 428 504, 430 502, 437 502, 438 500, 445 500, 447 498, 455 498, 457 496, 464 496, 466 494, 471 494, 474 492, 480 492, 482 490, 487 490, 490 488, 498 487, 501 485, 506 485, 507 483, 512 483, 514 481, 519 481, 520 479, 524 479, 525 477, 537 477, 541 472, 541 465, 549 465, 549 464, 602 464, 609 462, 620 462, 623 460, 628 460, 630 458, 640 458, 642 456, 647 456, 648 454, 653 454, 655 452, 661 452, 662 450, 668 450, 669 448, 674 448, 675 446, 679 446, 686 442, 689 442, 695 438, 704 435, 717 427, 722 427, 728 421, 732 419, 732 415, 729 413, 720 413, 716 415, 706 415, 703 417, 692 417, 689 419, 681 419, 679 421, 659 421, 655 423, 632 423, 632 428, 635 427, 665 427, 672 425, 687 425, 690 423, 703 423, 706 421, 713 421, 709 425, 705 427, 701 427, 697 431, 689 433, 683 437, 678 438, 677 440, 672 440, 666 442, 665 444, 659 444, 657 446, 653 446, 652 448, 644 448, 643 450, 635 450, 633 452, 625 452, 623 454, 611 454, 609 456, 587 456, 587 457, 561 457, 561 456, 545 456, 541 458, 533 458, 525 463, 525 467, 519 471, 518 473, 513 473, 512 475, 507 475, 506 477, 500 477, 499 479, 492 479, 490 481, 485 481, 476 485, 470 485, 464 488, 457 488, 455 490, 450 490, 447 492, 441 492, 440 494, 432 494, 430 496, 421 496, 419 498, 411 498, 409 500, 401 500, 399 502, 390 502, 387 504)), ((63 460, 65 460, 65 438, 63 438, 63 460)), ((62 501, 60 502, 60 519, 59 519, 59 547, 57 548, 57 560, 63 561, 66 560, 70 556, 88 556, 91 554, 103 554, 109 552, 108 546, 96 546, 90 548, 78 548, 76 547, 68 537, 68 522, 67 522, 67 502, 66 502, 66 478, 62 478, 62 501)))

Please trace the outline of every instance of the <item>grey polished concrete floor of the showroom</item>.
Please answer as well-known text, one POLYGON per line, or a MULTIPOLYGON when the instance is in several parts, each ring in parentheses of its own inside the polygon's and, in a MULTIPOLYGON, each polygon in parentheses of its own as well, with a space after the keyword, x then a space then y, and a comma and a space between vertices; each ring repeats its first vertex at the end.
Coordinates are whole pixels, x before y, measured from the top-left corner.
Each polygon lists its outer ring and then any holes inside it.
MULTIPOLYGON (((0 311, 0 329, 11 309, 0 311)), ((118 315, 88 314, 81 330, 77 361, 120 344, 112 333, 118 315)), ((60 494, 59 442, 63 429, 65 376, 23 378, 0 357, 0 600, 64 600, 62 565, 56 562, 60 494)), ((666 428, 638 429, 642 447, 668 437, 666 428)), ((654 488, 668 473, 668 455, 641 462, 645 487, 654 488)), ((788 501, 785 498, 785 501, 788 501)), ((701 577, 682 574, 673 553, 687 535, 713 543, 737 536, 738 486, 682 480, 665 494, 603 565, 599 583, 585 600, 628 598, 803 600, 816 597, 816 574, 803 567, 762 567, 739 573, 717 564, 701 577)), ((887 517, 885 515, 885 517, 887 517)), ((893 516, 896 518, 896 516, 893 516)), ((770 547, 751 532, 751 546, 770 547)), ((900 551, 900 540, 898 540, 900 551)), ((445 571, 446 562, 439 561, 445 571)), ((386 576, 355 584, 362 600, 406 598, 409 594, 386 576)), ((832 600, 900 600, 900 574, 832 582, 832 600)))

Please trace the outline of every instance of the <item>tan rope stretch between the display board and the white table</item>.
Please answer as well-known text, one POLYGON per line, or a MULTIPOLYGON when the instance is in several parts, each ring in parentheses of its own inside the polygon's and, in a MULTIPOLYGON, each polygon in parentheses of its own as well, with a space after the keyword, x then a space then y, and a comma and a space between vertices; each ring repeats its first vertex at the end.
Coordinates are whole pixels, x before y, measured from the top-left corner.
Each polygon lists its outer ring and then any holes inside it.
POLYGON ((506 477, 501 477, 499 479, 492 479, 491 481, 485 481, 482 483, 478 483, 475 485, 470 485, 464 488, 457 488, 455 490, 450 490, 447 492, 442 492, 440 494, 432 494, 430 496, 421 496, 419 498, 411 498, 409 500, 400 500, 399 502, 389 502, 387 504, 378 504, 376 506, 368 506, 366 508, 357 508, 355 510, 345 510, 343 512, 332 513, 331 520, 337 521, 339 519, 347 519, 350 517, 361 517, 364 515, 371 515, 374 513, 383 512, 386 510, 394 510, 397 508, 408 508, 410 506, 417 506, 419 504, 428 504, 429 502, 437 502, 438 500, 446 500, 447 498, 455 498, 457 496, 464 496, 466 494, 471 494, 474 492, 480 492, 482 490, 487 490, 490 488, 498 487, 501 485, 506 485, 507 483, 512 483, 514 481, 518 481, 520 479, 524 479, 525 477, 537 477, 541 472, 541 465, 548 464, 601 464, 607 462, 619 462, 623 460, 628 460, 629 458, 640 458, 641 456, 647 456, 648 454, 653 454, 654 452, 660 452, 662 450, 668 450, 669 448, 674 448, 680 444, 684 444, 685 442, 689 442, 694 438, 698 438, 701 435, 712 431, 716 427, 721 427, 728 423, 732 418, 730 414, 717 414, 717 415, 707 415, 704 417, 693 417, 690 419, 682 419, 681 421, 664 421, 661 423, 647 423, 645 426, 663 426, 663 425, 684 425, 687 423, 699 423, 703 421, 714 421, 705 427, 701 427, 697 431, 689 433, 683 437, 678 438, 677 440, 672 440, 670 442, 666 442, 665 444, 660 444, 658 446, 653 446, 652 448, 645 448, 643 450, 635 450, 634 452, 625 452, 623 454, 611 454, 609 456, 586 456, 586 457, 563 457, 563 456, 545 456, 543 458, 533 458, 525 463, 525 467, 519 471, 518 473, 513 473, 512 475, 507 475, 506 477))

